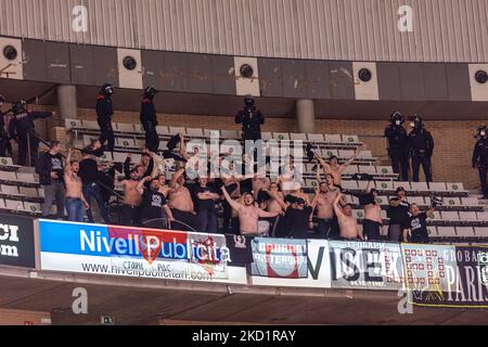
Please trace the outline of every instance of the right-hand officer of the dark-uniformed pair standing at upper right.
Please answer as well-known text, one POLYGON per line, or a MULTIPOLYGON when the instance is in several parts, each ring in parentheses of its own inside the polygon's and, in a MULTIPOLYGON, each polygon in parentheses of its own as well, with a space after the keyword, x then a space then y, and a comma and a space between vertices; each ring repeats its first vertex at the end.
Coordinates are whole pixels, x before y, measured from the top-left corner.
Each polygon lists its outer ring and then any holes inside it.
POLYGON ((420 166, 424 169, 427 183, 433 181, 432 156, 434 154, 434 139, 432 133, 424 129, 419 115, 413 116, 411 124, 413 130, 409 133, 409 153, 412 158, 413 181, 419 182, 420 166))

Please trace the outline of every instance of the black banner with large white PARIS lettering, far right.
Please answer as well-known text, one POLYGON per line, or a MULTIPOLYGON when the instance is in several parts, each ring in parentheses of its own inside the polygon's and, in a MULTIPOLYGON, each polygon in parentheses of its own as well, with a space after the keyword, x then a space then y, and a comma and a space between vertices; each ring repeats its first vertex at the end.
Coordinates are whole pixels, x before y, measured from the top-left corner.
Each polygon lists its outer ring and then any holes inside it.
MULTIPOLYGON (((455 281, 450 291, 415 291, 418 306, 488 308, 488 246, 455 247, 455 281)), ((450 280, 451 278, 449 278, 450 280)))

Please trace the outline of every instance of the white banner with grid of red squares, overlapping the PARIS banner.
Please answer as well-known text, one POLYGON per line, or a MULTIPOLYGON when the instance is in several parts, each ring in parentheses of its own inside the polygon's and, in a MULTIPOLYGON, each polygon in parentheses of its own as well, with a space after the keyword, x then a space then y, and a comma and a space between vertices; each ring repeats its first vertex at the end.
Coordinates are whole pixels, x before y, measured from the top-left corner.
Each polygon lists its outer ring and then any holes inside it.
POLYGON ((455 247, 449 245, 401 244, 407 291, 412 301, 455 292, 458 264, 455 247))

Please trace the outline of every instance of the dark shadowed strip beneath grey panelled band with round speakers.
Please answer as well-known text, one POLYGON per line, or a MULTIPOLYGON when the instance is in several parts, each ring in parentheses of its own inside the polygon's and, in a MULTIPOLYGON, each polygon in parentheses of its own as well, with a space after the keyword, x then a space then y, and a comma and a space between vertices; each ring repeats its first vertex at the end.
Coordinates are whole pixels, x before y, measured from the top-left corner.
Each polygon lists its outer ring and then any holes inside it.
MULTIPOLYGON (((55 87, 53 83, 0 79, 0 93, 8 100, 35 98, 55 87)), ((98 94, 95 87, 78 87, 78 106, 93 108, 98 94)), ((141 91, 117 89, 114 105, 117 111, 139 112, 141 91)), ((55 92, 38 101, 56 105, 55 92)), ((156 97, 159 113, 233 116, 242 106, 242 97, 197 93, 162 92, 156 97)), ((295 100, 282 98, 258 98, 259 108, 269 117, 294 117, 295 100)), ((419 113, 431 120, 485 120, 488 119, 486 102, 385 102, 385 101, 316 101, 317 118, 341 119, 388 119, 393 111, 406 115, 419 113)))

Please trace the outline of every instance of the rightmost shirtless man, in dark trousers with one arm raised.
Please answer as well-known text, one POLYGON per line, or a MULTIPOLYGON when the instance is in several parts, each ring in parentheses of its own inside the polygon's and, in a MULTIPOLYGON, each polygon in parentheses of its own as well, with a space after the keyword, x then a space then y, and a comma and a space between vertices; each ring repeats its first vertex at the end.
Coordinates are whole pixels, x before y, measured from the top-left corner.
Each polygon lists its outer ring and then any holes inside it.
POLYGON ((362 196, 364 204, 363 234, 368 241, 380 241, 383 227, 382 207, 376 202, 377 191, 368 183, 367 194, 362 196))

